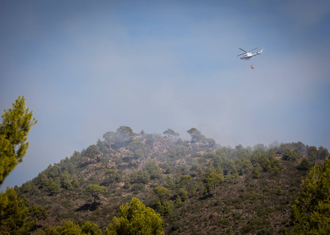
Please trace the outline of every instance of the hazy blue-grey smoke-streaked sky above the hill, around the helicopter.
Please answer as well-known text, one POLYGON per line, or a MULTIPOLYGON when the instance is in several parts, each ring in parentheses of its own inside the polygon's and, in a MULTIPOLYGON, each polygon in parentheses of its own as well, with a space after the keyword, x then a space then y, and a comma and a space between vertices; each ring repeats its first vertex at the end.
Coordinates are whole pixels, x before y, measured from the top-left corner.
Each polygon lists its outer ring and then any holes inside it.
POLYGON ((1 1, 0 108, 38 120, 1 190, 120 126, 329 149, 329 25, 329 1, 1 1))

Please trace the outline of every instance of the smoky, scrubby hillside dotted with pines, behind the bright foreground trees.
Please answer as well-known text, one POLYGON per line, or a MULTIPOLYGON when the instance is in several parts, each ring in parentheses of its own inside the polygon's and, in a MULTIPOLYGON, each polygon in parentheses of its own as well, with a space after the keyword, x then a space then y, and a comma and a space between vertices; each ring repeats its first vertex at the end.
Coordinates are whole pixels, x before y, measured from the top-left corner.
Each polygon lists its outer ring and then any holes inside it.
POLYGON ((115 234, 109 223, 133 198, 160 214, 165 234, 291 233, 291 206, 310 168, 329 156, 326 148, 277 141, 232 148, 195 128, 187 133, 191 140, 171 129, 121 126, 15 186, 32 233, 95 225, 87 230, 115 234))

